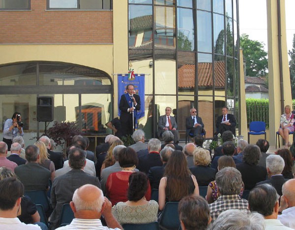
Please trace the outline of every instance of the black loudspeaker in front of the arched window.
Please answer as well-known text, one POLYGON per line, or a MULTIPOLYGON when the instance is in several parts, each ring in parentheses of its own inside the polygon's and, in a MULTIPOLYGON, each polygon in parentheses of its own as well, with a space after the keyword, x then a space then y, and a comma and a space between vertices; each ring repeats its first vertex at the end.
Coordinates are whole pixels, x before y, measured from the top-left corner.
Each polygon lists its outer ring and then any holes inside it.
POLYGON ((53 97, 37 97, 37 121, 53 121, 53 97))

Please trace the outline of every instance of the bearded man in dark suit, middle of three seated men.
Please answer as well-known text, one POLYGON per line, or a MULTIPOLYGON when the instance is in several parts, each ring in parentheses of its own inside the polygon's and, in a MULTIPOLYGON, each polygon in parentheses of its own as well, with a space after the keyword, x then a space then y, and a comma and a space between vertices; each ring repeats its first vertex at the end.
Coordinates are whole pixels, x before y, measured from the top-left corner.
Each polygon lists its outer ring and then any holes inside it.
POLYGON ((195 137, 202 133, 204 124, 202 118, 197 116, 197 109, 191 108, 189 112, 191 115, 185 119, 186 135, 195 137))

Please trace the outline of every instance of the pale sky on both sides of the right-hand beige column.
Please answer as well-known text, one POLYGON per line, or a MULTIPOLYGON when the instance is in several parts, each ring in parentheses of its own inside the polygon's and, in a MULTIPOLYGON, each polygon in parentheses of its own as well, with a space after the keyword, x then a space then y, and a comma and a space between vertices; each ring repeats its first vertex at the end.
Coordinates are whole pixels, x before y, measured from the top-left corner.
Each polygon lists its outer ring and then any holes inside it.
MULTIPOLYGON (((285 0, 287 50, 292 50, 295 34, 295 0, 285 0)), ((267 51, 266 0, 239 0, 239 32, 265 44, 267 51)))

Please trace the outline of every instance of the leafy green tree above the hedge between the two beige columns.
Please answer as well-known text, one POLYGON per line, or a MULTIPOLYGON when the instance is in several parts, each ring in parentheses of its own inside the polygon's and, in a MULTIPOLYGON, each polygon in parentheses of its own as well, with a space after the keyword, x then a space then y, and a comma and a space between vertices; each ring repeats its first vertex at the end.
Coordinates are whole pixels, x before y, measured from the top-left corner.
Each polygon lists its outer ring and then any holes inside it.
POLYGON ((267 52, 264 50, 264 43, 249 39, 248 34, 240 36, 240 48, 243 49, 243 56, 246 62, 246 76, 264 77, 267 70, 267 52))

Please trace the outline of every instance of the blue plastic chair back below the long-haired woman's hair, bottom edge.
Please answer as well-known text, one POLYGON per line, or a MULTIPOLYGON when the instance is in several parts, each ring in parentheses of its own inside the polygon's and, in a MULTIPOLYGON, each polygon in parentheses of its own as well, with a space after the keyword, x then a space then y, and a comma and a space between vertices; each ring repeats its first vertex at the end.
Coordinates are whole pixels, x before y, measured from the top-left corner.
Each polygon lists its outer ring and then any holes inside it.
POLYGON ((180 226, 178 214, 178 202, 167 202, 162 212, 160 228, 178 230, 180 226))

